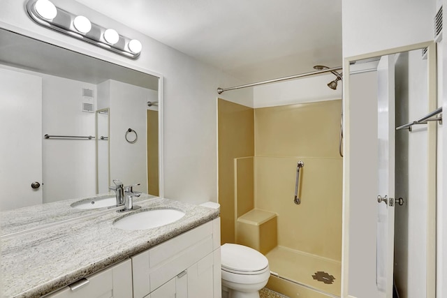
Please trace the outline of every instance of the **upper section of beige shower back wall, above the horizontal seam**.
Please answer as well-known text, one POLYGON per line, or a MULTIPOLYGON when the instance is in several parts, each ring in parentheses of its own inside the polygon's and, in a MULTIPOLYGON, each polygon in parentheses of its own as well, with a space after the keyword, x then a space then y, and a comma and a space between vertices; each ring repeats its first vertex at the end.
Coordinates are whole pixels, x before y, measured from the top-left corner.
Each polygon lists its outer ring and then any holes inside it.
POLYGON ((339 158, 342 100, 255 109, 255 156, 339 158))

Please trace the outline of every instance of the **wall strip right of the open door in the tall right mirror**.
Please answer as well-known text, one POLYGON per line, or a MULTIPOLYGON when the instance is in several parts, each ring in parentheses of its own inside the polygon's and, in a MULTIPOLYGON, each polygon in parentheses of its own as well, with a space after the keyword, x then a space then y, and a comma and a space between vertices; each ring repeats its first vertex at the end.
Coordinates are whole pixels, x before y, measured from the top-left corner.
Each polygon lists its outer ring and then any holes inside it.
MULTIPOLYGON (((420 51, 401 54, 396 61, 396 125, 426 114, 427 60, 420 51), (397 106, 400 106, 398 108, 397 106)), ((427 126, 396 132, 395 283, 401 297, 424 297, 427 289, 427 126)))

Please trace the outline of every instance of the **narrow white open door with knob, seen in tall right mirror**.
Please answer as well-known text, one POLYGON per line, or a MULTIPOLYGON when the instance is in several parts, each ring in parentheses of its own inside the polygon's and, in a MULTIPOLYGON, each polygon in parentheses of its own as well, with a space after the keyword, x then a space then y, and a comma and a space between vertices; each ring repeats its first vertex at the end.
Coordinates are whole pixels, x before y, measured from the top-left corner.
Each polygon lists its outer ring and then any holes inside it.
POLYGON ((377 66, 378 205, 376 284, 381 297, 393 297, 395 198, 395 58, 377 66))

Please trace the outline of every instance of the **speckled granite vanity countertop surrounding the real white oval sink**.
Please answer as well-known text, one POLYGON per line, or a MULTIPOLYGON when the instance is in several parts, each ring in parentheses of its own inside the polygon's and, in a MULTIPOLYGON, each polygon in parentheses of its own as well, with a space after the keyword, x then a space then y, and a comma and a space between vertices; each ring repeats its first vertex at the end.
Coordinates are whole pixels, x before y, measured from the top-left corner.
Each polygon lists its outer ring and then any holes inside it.
POLYGON ((3 297, 41 297, 101 271, 219 216, 217 209, 163 198, 138 202, 142 209, 179 209, 185 216, 148 230, 125 231, 108 213, 1 239, 3 297))

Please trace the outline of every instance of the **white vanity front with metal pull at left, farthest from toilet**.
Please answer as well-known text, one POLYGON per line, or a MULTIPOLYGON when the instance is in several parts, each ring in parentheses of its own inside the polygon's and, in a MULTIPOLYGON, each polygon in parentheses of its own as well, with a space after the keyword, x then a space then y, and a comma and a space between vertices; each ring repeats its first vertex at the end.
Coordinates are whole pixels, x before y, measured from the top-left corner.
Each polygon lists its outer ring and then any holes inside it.
POLYGON ((132 262, 125 260, 45 296, 47 298, 132 297, 132 262))

